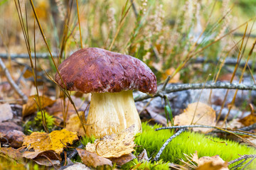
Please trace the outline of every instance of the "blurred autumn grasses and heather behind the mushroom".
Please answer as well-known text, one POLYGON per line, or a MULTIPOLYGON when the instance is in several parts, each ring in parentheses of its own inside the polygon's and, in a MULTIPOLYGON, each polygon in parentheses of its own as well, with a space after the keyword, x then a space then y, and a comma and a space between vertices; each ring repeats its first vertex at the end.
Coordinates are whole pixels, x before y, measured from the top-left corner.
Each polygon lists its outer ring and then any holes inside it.
MULTIPOLYGON (((253 0, 82 0, 80 29, 76 1, 37 0, 33 5, 57 65, 81 46, 101 47, 139 58, 159 82, 169 75, 171 83, 230 80, 239 57, 245 64, 256 37, 253 0)), ((24 71, 30 67, 28 51, 36 53, 37 71, 43 74, 45 69, 53 77, 56 69, 31 2, 2 0, 0 15, 0 54, 14 79, 21 72, 25 79, 33 78, 29 69, 24 71)), ((241 72, 239 67, 236 75, 241 72)), ((250 72, 246 75, 250 77, 250 72)), ((43 77, 42 84, 46 80, 43 77)))

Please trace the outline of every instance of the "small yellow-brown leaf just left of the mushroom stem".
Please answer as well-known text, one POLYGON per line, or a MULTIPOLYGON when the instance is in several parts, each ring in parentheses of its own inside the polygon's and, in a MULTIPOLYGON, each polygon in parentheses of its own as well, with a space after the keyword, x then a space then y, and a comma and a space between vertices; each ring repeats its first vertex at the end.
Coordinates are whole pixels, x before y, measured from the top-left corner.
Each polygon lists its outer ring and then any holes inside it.
MULTIPOLYGON (((83 115, 80 118, 82 118, 82 122, 85 124, 84 112, 83 111, 79 112, 79 115, 83 115)), ((65 129, 67 129, 71 132, 78 132, 78 135, 80 135, 80 136, 85 135, 85 130, 83 130, 82 125, 80 123, 80 119, 78 118, 77 114, 73 114, 70 116, 65 129)))

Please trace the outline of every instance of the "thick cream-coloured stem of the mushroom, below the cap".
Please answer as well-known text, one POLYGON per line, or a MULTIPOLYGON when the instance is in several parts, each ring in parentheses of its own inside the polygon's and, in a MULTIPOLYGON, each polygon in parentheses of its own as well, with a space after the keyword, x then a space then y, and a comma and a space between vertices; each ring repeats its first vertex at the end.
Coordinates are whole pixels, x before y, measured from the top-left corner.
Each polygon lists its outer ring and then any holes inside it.
POLYGON ((134 134, 142 132, 132 91, 92 93, 85 125, 86 135, 104 137, 135 125, 134 134))

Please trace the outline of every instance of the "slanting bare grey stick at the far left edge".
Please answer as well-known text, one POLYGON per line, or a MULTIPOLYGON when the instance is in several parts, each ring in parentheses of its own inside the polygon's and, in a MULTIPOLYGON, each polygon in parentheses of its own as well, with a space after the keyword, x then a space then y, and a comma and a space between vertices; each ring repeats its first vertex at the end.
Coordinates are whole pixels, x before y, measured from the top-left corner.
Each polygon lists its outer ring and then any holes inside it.
POLYGON ((7 78, 7 80, 9 81, 9 84, 11 85, 11 87, 14 89, 14 91, 16 91, 16 93, 18 94, 18 96, 21 96, 23 102, 28 101, 28 97, 23 94, 23 92, 21 91, 21 89, 19 89, 18 85, 15 83, 15 81, 11 78, 11 74, 9 73, 8 69, 6 68, 6 66, 4 65, 4 62, 1 60, 0 58, 0 67, 1 69, 4 71, 4 74, 7 78))

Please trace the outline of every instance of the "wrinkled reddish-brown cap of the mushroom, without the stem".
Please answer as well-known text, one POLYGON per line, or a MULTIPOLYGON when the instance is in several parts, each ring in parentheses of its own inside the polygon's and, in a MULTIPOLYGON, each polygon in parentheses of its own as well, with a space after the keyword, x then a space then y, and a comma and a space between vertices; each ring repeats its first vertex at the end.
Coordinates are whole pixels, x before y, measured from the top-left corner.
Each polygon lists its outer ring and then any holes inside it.
MULTIPOLYGON (((144 62, 129 55, 110 52, 96 47, 74 52, 58 67, 69 91, 82 93, 120 92, 139 90, 156 93, 156 76, 144 62)), ((63 83, 55 74, 55 81, 63 83)))

